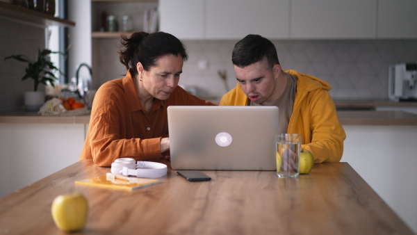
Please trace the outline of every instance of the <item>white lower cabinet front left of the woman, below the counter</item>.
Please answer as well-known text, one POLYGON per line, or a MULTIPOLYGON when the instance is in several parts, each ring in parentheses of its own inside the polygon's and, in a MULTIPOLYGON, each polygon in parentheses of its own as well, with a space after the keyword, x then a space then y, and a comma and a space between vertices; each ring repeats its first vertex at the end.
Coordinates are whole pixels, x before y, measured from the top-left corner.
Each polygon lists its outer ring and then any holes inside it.
POLYGON ((79 161, 88 124, 0 124, 0 197, 79 161))

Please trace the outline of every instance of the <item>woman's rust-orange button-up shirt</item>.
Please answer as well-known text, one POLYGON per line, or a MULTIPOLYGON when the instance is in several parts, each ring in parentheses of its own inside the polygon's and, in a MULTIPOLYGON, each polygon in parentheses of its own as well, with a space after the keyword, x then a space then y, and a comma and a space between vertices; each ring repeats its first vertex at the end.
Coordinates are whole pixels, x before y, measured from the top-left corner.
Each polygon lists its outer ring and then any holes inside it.
POLYGON ((81 159, 110 166, 115 159, 160 159, 161 138, 168 137, 167 107, 214 105, 177 86, 166 100, 154 99, 151 113, 142 108, 135 83, 128 72, 123 79, 104 83, 95 95, 81 159))

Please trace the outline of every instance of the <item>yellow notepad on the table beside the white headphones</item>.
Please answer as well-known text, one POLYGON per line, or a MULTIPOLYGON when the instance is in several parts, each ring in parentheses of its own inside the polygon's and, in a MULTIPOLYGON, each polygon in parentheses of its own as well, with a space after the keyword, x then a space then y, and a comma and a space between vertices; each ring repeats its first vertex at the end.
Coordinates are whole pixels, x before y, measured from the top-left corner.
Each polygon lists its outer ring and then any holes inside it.
POLYGON ((95 186, 95 187, 101 187, 101 188, 113 188, 113 189, 124 190, 124 191, 134 191, 138 188, 144 188, 144 187, 152 186, 154 184, 159 184, 159 183, 161 183, 161 180, 159 179, 135 178, 134 181, 133 180, 128 181, 125 179, 117 179, 115 177, 109 178, 106 175, 75 181, 75 184, 77 185, 95 186))

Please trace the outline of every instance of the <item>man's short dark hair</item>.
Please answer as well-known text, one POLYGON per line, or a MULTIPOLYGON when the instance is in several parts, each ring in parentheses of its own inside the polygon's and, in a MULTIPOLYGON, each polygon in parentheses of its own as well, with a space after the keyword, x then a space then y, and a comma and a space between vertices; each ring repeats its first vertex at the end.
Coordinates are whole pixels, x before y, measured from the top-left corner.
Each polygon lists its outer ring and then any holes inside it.
POLYGON ((231 54, 231 62, 238 67, 246 67, 266 58, 272 70, 279 65, 275 45, 261 35, 250 34, 235 44, 231 54))

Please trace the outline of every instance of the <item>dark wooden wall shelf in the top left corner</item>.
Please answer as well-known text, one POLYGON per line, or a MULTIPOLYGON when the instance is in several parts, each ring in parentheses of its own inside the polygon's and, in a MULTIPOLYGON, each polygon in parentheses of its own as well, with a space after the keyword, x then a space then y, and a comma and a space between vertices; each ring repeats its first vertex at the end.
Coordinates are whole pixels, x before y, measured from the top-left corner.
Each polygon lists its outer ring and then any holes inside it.
POLYGON ((70 22, 66 19, 60 19, 28 8, 21 8, 3 1, 0 1, 0 16, 17 22, 22 22, 23 24, 41 27, 53 25, 70 27, 75 26, 74 22, 70 22))

